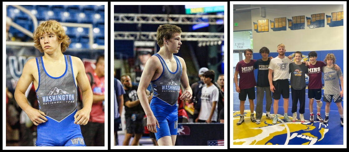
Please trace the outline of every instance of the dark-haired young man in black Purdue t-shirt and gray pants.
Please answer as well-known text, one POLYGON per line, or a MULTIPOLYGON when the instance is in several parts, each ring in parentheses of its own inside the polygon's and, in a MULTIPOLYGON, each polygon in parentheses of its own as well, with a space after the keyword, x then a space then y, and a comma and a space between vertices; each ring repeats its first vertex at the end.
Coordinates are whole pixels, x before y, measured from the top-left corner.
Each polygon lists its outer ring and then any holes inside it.
POLYGON ((272 105, 272 92, 270 91, 268 73, 269 73, 269 62, 268 58, 269 49, 267 47, 262 47, 259 50, 259 53, 262 56, 262 59, 257 60, 254 63, 254 68, 258 69, 257 75, 257 106, 256 106, 256 123, 260 124, 260 119, 263 114, 263 98, 264 91, 266 92, 266 117, 267 119, 273 119, 273 116, 270 115, 270 107, 272 105))

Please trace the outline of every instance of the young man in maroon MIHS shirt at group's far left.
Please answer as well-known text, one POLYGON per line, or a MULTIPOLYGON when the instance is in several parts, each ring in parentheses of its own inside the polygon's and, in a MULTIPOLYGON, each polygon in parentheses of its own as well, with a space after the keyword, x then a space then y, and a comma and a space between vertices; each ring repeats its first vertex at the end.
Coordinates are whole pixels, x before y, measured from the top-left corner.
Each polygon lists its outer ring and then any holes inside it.
POLYGON ((253 65, 256 60, 251 60, 252 50, 246 49, 244 52, 245 59, 236 64, 236 71, 234 74, 234 82, 236 87, 236 92, 239 93, 240 100, 240 120, 237 122, 237 125, 240 125, 244 122, 244 110, 245 110, 245 100, 248 95, 248 101, 250 102, 250 111, 251 111, 251 121, 255 122, 253 109, 254 104, 253 100, 255 99, 254 86, 256 81, 253 73, 253 65), (240 75, 239 85, 238 85, 238 74, 240 75))

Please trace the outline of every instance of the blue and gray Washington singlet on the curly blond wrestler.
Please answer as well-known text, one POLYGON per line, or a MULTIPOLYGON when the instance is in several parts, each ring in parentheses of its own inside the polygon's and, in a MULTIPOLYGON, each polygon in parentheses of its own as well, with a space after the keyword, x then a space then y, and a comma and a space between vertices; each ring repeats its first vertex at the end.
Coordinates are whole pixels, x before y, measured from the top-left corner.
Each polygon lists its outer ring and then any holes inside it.
POLYGON ((36 89, 39 110, 47 121, 37 126, 36 146, 85 146, 79 124, 74 124, 77 111, 77 87, 72 58, 64 55, 66 70, 60 77, 47 74, 42 57, 36 58, 39 85, 36 89))

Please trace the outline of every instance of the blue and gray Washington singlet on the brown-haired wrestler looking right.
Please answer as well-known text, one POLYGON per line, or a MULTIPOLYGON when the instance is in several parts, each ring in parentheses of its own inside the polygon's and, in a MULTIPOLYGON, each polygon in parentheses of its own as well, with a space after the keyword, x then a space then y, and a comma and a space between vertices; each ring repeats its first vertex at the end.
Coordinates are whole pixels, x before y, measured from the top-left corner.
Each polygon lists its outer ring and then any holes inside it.
POLYGON ((164 136, 177 135, 178 109, 176 103, 180 90, 182 66, 177 56, 173 55, 177 68, 176 71, 171 72, 162 57, 159 54, 154 55, 159 58, 163 69, 160 77, 150 82, 154 92, 150 108, 160 126, 160 128, 156 127, 157 133, 155 133, 156 140, 158 140, 164 136))

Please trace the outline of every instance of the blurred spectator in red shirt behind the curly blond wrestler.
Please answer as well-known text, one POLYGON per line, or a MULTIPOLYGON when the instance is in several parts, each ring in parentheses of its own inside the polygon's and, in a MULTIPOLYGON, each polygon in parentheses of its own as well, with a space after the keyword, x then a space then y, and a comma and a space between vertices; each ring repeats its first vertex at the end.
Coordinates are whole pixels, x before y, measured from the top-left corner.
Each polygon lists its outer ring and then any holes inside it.
POLYGON ((104 55, 96 60, 96 69, 86 73, 93 92, 89 123, 81 127, 86 146, 104 146, 104 55))

